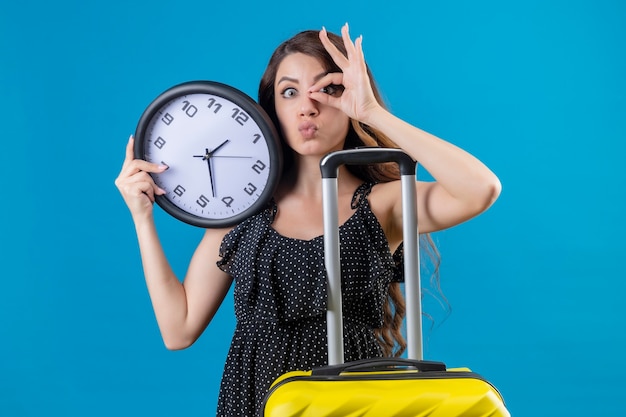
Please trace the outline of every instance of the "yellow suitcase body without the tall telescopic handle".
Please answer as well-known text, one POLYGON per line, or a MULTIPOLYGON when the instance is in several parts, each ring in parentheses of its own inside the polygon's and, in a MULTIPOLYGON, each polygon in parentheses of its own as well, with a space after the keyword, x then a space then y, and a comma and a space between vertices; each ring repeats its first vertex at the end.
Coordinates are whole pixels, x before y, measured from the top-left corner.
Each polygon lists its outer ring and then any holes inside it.
POLYGON ((440 362, 401 359, 366 359, 286 373, 270 388, 264 413, 266 417, 510 416, 500 393, 469 369, 446 370, 440 362))

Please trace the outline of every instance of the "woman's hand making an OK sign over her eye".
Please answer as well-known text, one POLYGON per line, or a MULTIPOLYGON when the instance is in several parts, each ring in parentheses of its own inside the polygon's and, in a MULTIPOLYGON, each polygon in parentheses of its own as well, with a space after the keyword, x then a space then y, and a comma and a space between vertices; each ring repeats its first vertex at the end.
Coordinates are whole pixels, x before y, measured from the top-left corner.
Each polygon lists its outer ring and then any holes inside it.
POLYGON ((359 36, 353 43, 350 39, 348 24, 341 28, 341 36, 346 48, 347 57, 328 39, 326 29, 320 31, 320 40, 337 66, 343 72, 327 74, 309 89, 312 99, 341 109, 348 117, 367 123, 369 114, 380 107, 374 96, 370 78, 365 65, 362 41, 359 36), (329 93, 330 85, 342 86, 343 93, 329 93))

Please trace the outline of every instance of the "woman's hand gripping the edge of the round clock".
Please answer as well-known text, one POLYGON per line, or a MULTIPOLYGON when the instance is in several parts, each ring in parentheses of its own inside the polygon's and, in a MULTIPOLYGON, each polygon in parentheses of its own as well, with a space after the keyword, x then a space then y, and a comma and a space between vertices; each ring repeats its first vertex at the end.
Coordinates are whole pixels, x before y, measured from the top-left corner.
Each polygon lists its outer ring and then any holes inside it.
POLYGON ((122 169, 115 179, 134 220, 152 216, 155 195, 163 195, 165 191, 158 187, 150 172, 163 172, 168 167, 135 159, 133 154, 134 138, 131 136, 126 145, 126 157, 122 169))

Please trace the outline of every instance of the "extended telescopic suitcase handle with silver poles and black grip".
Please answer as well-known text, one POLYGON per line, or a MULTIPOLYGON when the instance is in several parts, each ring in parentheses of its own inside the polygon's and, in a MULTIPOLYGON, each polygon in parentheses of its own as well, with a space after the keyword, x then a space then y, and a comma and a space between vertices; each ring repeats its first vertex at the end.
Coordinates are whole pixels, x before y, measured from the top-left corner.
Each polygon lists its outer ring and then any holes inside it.
POLYGON ((341 165, 367 165, 382 162, 396 162, 400 167, 408 357, 417 360, 423 359, 422 297, 419 276, 419 242, 415 192, 416 162, 401 149, 368 147, 331 152, 320 162, 324 210, 324 263, 328 273, 329 365, 337 365, 344 362, 339 221, 337 218, 338 169, 341 165))

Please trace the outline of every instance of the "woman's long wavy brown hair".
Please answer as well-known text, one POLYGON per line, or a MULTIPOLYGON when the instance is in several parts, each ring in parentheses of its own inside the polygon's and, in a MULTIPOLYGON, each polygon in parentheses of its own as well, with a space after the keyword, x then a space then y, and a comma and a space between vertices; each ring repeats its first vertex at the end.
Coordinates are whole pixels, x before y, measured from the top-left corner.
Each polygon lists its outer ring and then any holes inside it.
MULTIPOLYGON (((343 40, 340 36, 328 33, 328 38, 337 47, 337 49, 344 54, 344 56, 347 56, 343 40)), ((303 53, 318 59, 328 72, 341 72, 341 69, 337 66, 337 64, 335 64, 332 57, 324 48, 324 45, 322 45, 319 39, 318 31, 307 30, 298 33, 291 39, 288 39, 279 45, 279 47, 274 51, 274 54, 271 56, 259 84, 259 104, 264 108, 274 122, 276 128, 279 130, 284 153, 283 172, 289 171, 294 161, 294 155, 293 151, 286 144, 283 134, 280 131, 280 123, 274 106, 274 82, 276 80, 276 73, 280 63, 285 57, 294 53, 303 53)), ((384 102, 369 67, 367 67, 367 74, 370 78, 374 96, 378 102, 384 106, 384 102)), ((388 148, 398 147, 393 141, 391 141, 391 139, 379 130, 352 119, 350 121, 350 127, 346 136, 344 149, 352 149, 359 146, 380 146, 388 148)), ((400 178, 398 165, 393 162, 365 166, 348 165, 347 168, 355 176, 367 182, 389 182, 400 178)), ((422 248, 422 257, 425 254, 428 257, 429 262, 434 266, 431 281, 435 282, 438 288, 439 253, 437 252, 437 248, 428 234, 420 235, 420 241, 422 243, 420 245, 422 248)), ((378 342, 381 346, 383 354, 386 356, 400 356, 406 349, 406 341, 402 335, 402 322, 405 314, 405 301, 400 284, 392 283, 389 286, 388 297, 383 307, 383 326, 380 329, 375 329, 378 342)))

